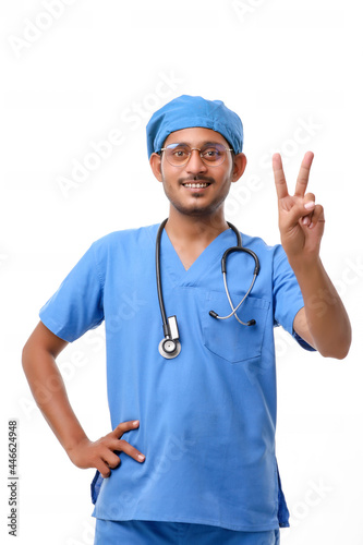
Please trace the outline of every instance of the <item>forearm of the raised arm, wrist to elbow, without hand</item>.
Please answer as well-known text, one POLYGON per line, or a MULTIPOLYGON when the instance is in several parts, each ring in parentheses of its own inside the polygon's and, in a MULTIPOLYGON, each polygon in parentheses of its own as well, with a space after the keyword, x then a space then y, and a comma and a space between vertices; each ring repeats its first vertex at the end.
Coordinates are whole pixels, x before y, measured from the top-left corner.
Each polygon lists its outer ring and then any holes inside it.
POLYGON ((306 326, 314 347, 324 356, 346 358, 351 343, 350 320, 322 261, 290 264, 302 291, 306 326))

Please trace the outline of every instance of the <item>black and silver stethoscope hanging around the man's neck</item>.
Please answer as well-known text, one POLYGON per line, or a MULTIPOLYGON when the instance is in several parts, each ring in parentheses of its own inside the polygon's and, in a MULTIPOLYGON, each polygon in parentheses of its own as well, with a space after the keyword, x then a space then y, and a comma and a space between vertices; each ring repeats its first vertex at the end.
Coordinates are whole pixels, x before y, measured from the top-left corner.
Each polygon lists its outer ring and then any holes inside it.
MULTIPOLYGON (((179 329, 178 329, 178 322, 177 322, 177 316, 169 316, 167 318, 167 314, 165 312, 165 305, 164 305, 164 299, 162 299, 162 289, 161 289, 161 274, 160 274, 160 240, 161 240, 161 233, 165 228, 166 222, 168 221, 168 218, 165 219, 158 229, 157 235, 156 235, 156 283, 157 283, 157 289, 158 289, 158 299, 159 299, 159 306, 160 306, 160 313, 161 313, 161 319, 162 319, 162 330, 164 330, 164 339, 161 339, 159 343, 159 352, 160 354, 166 358, 167 360, 171 360, 173 358, 177 358, 177 355, 180 354, 181 351, 181 344, 179 340, 179 329)), ((249 250, 247 247, 242 246, 242 239, 240 232, 237 230, 232 223, 227 221, 229 227, 234 231, 235 237, 237 237, 237 246, 231 246, 222 255, 221 258, 221 271, 223 275, 223 283, 225 283, 225 290, 227 293, 227 298, 229 301, 229 304, 232 308, 232 312, 228 316, 218 316, 218 314, 215 311, 209 311, 209 315, 213 318, 216 319, 227 319, 230 318, 231 316, 234 316, 234 318, 242 324, 243 326, 254 326, 256 324, 255 319, 250 319, 249 322, 244 323, 242 322, 238 315, 237 311, 240 308, 240 306, 243 304, 243 302, 246 300, 249 294, 251 293, 251 290, 255 283, 255 280, 257 278, 257 275, 259 272, 259 262, 258 257, 256 254, 252 251, 249 250), (246 254, 250 254, 255 262, 255 269, 253 271, 253 279, 250 284, 250 288, 247 289, 244 298, 242 301, 233 307, 233 303, 228 290, 227 286, 227 257, 232 253, 232 252, 245 252, 246 254)))

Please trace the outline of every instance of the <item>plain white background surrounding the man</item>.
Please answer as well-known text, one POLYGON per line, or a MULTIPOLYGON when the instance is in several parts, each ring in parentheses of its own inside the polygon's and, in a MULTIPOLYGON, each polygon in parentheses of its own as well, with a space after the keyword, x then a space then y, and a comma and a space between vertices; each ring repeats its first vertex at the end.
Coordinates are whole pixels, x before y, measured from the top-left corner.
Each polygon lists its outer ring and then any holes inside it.
MULTIPOLYGON (((227 219, 269 244, 279 242, 271 154, 282 153, 293 190, 304 153, 315 153, 310 189, 326 210, 322 257, 349 311, 354 339, 341 362, 306 353, 277 331, 277 449, 292 524, 282 531, 282 544, 363 543, 356 4, 19 0, 2 5, 2 543, 93 543, 94 471, 73 467, 49 431, 32 401, 21 351, 39 307, 94 240, 167 216, 168 203, 147 161, 145 125, 153 111, 182 94, 221 99, 242 118, 249 165, 229 197, 227 219), (114 130, 122 143, 84 170, 83 181, 72 180, 76 161, 87 164, 94 153, 92 143, 114 130), (7 437, 13 417, 20 446, 16 541, 7 535, 7 437)), ((76 414, 88 436, 98 438, 110 429, 102 328, 69 346, 59 363, 76 414)))

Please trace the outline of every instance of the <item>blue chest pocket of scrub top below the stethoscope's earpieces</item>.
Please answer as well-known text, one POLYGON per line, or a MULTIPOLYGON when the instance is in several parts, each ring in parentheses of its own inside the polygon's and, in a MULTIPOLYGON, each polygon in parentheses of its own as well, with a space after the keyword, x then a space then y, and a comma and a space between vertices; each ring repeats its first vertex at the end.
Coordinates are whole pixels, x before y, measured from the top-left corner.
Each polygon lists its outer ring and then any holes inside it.
MULTIPOLYGON (((243 298, 240 293, 230 292, 230 294, 234 306, 243 298)), ((256 324, 243 326, 234 316, 228 319, 211 317, 209 311, 215 311, 219 316, 227 316, 231 307, 226 292, 207 292, 202 316, 204 346, 231 363, 261 356, 269 305, 268 301, 249 295, 237 314, 242 322, 255 319, 256 324)))

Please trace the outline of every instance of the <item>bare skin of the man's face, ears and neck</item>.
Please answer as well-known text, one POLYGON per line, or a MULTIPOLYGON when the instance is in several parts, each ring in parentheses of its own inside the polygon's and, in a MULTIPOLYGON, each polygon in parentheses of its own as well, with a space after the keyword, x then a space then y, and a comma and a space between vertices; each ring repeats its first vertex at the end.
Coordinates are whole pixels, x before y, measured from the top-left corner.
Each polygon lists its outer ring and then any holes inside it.
MULTIPOLYGON (((183 129, 171 133, 165 141, 168 144, 189 143, 191 147, 201 148, 207 142, 229 143, 223 136, 210 129, 183 129)), ((162 183, 164 191, 170 202, 169 219, 166 231, 187 269, 207 245, 229 226, 225 219, 223 205, 231 183, 237 182, 246 167, 246 157, 239 154, 232 160, 231 154, 218 167, 206 166, 197 150, 185 167, 173 167, 158 154, 150 157, 150 167, 156 179, 162 183), (201 192, 185 189, 185 182, 201 183, 207 181, 210 185, 201 192)))

